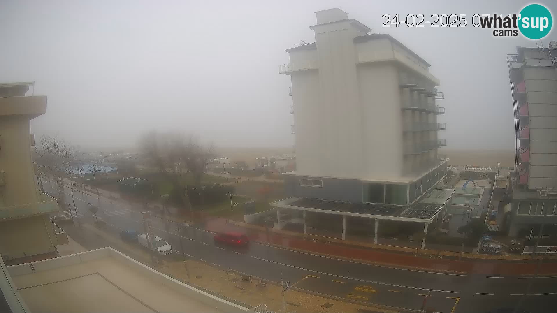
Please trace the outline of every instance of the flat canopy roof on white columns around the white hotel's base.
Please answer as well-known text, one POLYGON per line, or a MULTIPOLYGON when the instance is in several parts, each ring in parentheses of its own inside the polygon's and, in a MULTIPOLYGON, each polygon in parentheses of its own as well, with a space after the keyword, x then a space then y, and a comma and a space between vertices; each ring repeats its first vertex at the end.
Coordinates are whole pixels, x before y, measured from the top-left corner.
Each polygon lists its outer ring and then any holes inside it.
POLYGON ((411 206, 296 197, 278 200, 271 203, 271 206, 401 222, 429 223, 448 203, 453 193, 455 190, 452 189, 432 189, 419 202, 411 206))

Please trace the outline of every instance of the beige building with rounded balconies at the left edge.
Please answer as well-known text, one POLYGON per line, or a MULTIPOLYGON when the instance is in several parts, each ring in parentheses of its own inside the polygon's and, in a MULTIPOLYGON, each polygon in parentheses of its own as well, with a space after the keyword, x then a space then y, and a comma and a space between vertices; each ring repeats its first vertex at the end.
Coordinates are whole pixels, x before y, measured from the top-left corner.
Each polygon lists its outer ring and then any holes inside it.
MULTIPOLYGON (((6 261, 56 253, 65 233, 48 218, 55 198, 38 190, 31 159, 31 120, 46 96, 26 96, 33 83, 0 84, 0 254, 6 261)), ((54 256, 54 255, 53 255, 54 256)))

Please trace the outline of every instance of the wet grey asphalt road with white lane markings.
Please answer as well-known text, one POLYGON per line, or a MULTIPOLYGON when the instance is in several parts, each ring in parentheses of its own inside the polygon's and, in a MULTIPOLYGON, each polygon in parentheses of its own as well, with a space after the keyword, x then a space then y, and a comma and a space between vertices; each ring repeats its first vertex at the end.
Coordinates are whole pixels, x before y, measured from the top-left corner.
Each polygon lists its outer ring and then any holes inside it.
MULTIPOLYGON (((45 191, 56 192, 53 186, 45 183, 45 191)), ((65 201, 72 204, 71 189, 65 187, 64 193, 65 201)), ((97 217, 102 221, 116 228, 143 232, 140 214, 128 204, 113 203, 108 198, 98 199, 81 192, 74 192, 74 196, 81 220, 94 221, 87 209, 87 203, 92 203, 99 206, 97 217)), ((185 255, 198 260, 269 281, 280 282, 282 277, 297 288, 391 306, 400 312, 419 310, 428 294, 426 306, 442 313, 486 312, 514 307, 529 283, 531 288, 524 296, 523 309, 532 313, 551 312, 557 300, 557 277, 486 277, 404 270, 311 255, 257 242, 247 248, 215 246, 213 233, 157 217, 153 217, 153 226, 155 234, 170 243, 177 253, 182 253, 179 232, 185 255)))

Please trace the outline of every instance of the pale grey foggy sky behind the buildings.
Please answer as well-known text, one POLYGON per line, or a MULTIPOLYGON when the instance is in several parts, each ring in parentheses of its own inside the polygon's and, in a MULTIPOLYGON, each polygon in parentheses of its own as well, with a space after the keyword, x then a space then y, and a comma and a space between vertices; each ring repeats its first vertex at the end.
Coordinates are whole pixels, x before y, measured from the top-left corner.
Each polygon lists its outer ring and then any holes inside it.
MULTIPOLYGON (((218 146, 289 146, 286 48, 314 42, 315 11, 341 7, 431 63, 441 81, 447 148, 514 148, 506 55, 535 46, 472 27, 474 13, 518 13, 527 1, 2 1, 0 82, 36 81, 47 114, 36 136, 123 146, 178 130, 218 146), (382 28, 384 13, 468 14, 465 28, 382 28)), ((557 18, 557 5, 544 4, 557 18)), ((557 40, 553 27, 544 47, 557 40)))

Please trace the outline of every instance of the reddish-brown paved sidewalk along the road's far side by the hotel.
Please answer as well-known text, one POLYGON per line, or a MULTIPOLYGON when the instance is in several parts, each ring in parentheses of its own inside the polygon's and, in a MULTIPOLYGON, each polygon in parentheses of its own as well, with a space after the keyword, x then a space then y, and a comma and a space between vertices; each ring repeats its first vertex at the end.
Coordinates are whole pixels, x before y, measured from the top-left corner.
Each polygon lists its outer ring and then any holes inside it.
MULTIPOLYGON (((246 224, 243 222, 228 222, 223 218, 216 218, 206 223, 208 231, 219 232, 236 228, 245 232, 252 240, 271 246, 288 248, 295 251, 310 252, 317 255, 325 255, 340 259, 368 262, 389 267, 417 268, 419 270, 438 271, 438 272, 457 272, 473 274, 501 274, 501 275, 531 275, 538 267, 539 257, 529 260, 529 256, 496 256, 496 259, 488 260, 487 255, 472 255, 463 253, 463 260, 457 260, 460 253, 447 251, 420 250, 396 247, 396 251, 385 250, 381 246, 369 244, 367 247, 351 246, 346 243, 339 243, 341 240, 321 237, 329 242, 318 240, 307 240, 301 238, 303 234, 277 231, 269 229, 268 237, 265 228, 246 224), (339 241, 339 242, 336 242, 339 241), (369 246, 369 247, 368 247, 369 246), (505 260, 505 262, 502 262, 505 260)), ((319 238, 317 236, 307 236, 308 238, 319 238)), ((384 246, 389 247, 389 246, 384 246)), ((557 262, 554 259, 544 261, 540 266, 540 274, 557 273, 557 262), (553 263, 550 263, 552 262, 553 263)))

